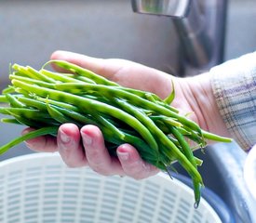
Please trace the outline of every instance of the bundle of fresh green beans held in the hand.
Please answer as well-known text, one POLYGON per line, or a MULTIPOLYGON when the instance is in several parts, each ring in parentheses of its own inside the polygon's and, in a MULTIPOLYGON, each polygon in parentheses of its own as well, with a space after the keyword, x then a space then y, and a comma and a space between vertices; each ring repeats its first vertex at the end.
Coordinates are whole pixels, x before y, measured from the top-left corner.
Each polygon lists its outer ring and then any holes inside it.
POLYGON ((0 154, 18 143, 44 135, 56 136, 63 123, 97 125, 101 128, 110 154, 122 143, 132 144, 141 158, 166 171, 178 161, 192 177, 195 206, 200 201, 202 177, 197 166, 202 161, 193 151, 207 140, 230 142, 230 138, 206 132, 181 115, 170 104, 174 91, 166 99, 155 94, 117 85, 104 77, 62 60, 50 60, 39 71, 14 64, 11 85, 3 90, 0 112, 10 115, 4 123, 28 125, 36 130, 8 142, 0 154), (67 73, 46 69, 54 63, 67 73), (189 141, 194 141, 191 148, 189 141))

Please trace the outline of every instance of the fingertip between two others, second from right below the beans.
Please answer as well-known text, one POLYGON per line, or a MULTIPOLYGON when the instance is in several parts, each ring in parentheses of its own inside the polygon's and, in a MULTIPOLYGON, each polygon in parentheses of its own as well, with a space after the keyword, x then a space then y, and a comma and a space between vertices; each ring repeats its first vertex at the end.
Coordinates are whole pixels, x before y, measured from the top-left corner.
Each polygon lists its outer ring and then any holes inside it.
POLYGON ((88 165, 101 175, 123 175, 118 159, 111 157, 104 145, 101 130, 94 125, 85 125, 80 132, 88 165))

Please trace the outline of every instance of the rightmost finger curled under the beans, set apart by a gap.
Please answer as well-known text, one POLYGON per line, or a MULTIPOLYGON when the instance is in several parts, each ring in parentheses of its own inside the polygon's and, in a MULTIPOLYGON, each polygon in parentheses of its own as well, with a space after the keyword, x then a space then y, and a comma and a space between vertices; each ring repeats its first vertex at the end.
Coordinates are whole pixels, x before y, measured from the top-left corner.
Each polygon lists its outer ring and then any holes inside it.
POLYGON ((135 179, 154 176, 158 169, 141 160, 139 152, 129 144, 123 144, 117 148, 117 156, 122 164, 125 174, 135 179))

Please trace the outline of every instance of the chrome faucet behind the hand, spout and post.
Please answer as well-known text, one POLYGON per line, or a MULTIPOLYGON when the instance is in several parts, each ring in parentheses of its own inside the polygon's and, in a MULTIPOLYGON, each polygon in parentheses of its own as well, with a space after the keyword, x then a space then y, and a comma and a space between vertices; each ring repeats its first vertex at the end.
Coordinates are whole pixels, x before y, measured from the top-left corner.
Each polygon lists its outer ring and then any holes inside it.
POLYGON ((184 75, 222 62, 226 0, 131 0, 134 12, 173 19, 181 40, 184 75))

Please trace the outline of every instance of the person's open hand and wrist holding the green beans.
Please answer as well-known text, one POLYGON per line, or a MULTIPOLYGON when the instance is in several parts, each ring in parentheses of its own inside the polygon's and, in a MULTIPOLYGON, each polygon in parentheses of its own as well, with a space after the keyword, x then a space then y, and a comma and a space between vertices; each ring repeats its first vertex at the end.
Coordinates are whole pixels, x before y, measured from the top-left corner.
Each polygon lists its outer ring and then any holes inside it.
MULTIPOLYGON (((198 82, 198 80, 204 80, 205 87, 209 85, 209 78, 182 79, 124 59, 95 59, 64 51, 53 53, 51 59, 73 62, 119 85, 151 91, 161 98, 166 98, 171 92, 172 79, 176 92, 172 105, 181 109, 182 112, 193 111, 191 119, 206 130, 210 127, 214 128, 214 125, 210 125, 206 120, 208 116, 211 118, 214 114, 214 109, 204 105, 206 99, 211 103, 212 98, 205 89, 201 89, 202 83, 198 82), (204 105, 203 108, 200 107, 201 105, 204 105)), ((56 69, 61 72, 60 68, 56 69)), ((216 118, 214 118, 215 123, 216 118)), ((128 144, 117 148, 117 158, 111 157, 104 146, 101 130, 93 125, 85 125, 80 130, 73 124, 61 125, 57 138, 34 138, 27 141, 27 144, 35 151, 59 151, 63 161, 69 166, 88 165, 102 175, 120 175, 140 179, 158 172, 155 166, 143 162, 138 151, 128 144)))

